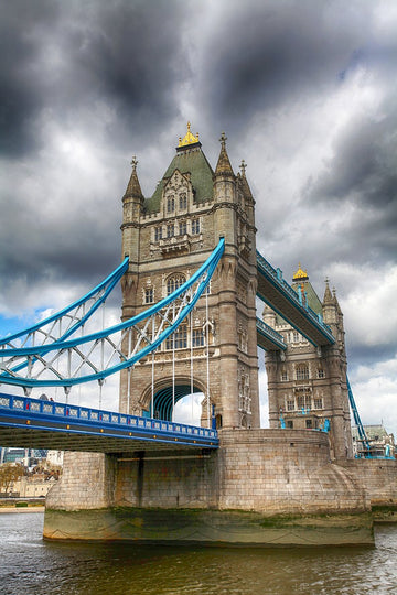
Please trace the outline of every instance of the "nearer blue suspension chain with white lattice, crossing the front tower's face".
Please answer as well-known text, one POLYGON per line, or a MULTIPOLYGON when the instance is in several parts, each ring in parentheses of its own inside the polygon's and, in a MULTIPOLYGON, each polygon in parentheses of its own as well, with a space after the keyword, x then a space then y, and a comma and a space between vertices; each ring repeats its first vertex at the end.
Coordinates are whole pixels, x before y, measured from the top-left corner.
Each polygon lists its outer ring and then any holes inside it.
POLYGON ((200 267, 200 269, 183 285, 161 300, 158 304, 154 304, 144 312, 121 324, 83 337, 69 340, 56 340, 52 344, 41 345, 39 347, 10 348, 4 346, 0 349, 0 358, 3 359, 3 363, 0 366, 0 369, 3 370, 0 375, 0 382, 28 388, 49 386, 71 387, 92 380, 101 381, 107 376, 133 366, 139 359, 155 350, 167 337, 174 333, 182 321, 193 310, 210 283, 214 270, 224 252, 224 246, 225 240, 222 238, 218 246, 204 264, 200 267), (193 289, 194 285, 195 289, 193 289), (150 336, 151 329, 149 323, 155 315, 159 316, 160 322, 157 331, 150 336), (142 328, 139 327, 140 323, 144 323, 142 328), (138 339, 133 346, 133 350, 129 351, 126 356, 121 350, 121 342, 126 338, 128 333, 132 332, 137 334, 138 339), (110 338, 111 335, 117 334, 120 335, 118 342, 110 338), (97 348, 97 350, 99 350, 99 348, 104 349, 105 343, 107 347, 110 346, 112 349, 111 357, 109 358, 109 361, 107 361, 107 367, 104 367, 105 363, 99 365, 92 358, 93 351, 97 348), (141 347, 142 343, 144 343, 146 346, 141 347), (83 346, 87 346, 88 355, 83 353, 83 346), (52 355, 53 353, 54 355, 52 355), (67 355, 68 361, 66 366, 68 368, 72 366, 72 357, 77 358, 78 366, 73 375, 71 374, 71 370, 66 370, 65 374, 60 371, 54 365, 54 361, 64 355, 67 355), (111 359, 117 359, 118 364, 109 364, 111 359), (36 363, 42 365, 39 375, 51 374, 53 379, 40 380, 37 374, 36 377, 34 377, 32 368, 36 363), (88 366, 93 372, 77 376, 84 365, 88 366), (25 368, 28 368, 26 376, 18 375, 18 371, 25 368))

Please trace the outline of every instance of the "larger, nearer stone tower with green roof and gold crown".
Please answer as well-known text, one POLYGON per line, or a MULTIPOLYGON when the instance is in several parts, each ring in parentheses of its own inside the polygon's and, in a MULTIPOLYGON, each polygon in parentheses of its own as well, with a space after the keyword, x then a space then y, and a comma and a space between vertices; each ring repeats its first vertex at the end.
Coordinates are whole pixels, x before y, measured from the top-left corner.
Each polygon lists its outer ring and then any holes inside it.
POLYGON ((122 205, 122 256, 130 259, 122 280, 122 320, 189 279, 221 237, 225 252, 211 281, 208 316, 201 298, 193 321, 174 335, 174 348, 168 340, 155 353, 153 382, 152 358, 138 363, 129 381, 129 372, 122 372, 120 411, 170 420, 173 403, 193 388, 205 396, 203 424, 211 404, 218 426, 259 428, 255 202, 244 162, 236 175, 223 133, 213 171, 187 125, 150 198, 143 197, 132 161, 122 205))

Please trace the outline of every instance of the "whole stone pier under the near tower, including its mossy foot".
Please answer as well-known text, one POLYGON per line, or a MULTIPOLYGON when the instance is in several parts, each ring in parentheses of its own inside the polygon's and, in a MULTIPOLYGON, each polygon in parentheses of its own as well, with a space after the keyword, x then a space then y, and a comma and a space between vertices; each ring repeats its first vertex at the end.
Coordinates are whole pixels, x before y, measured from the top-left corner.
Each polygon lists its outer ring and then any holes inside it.
MULTIPOLYGON (((373 543, 371 501, 329 436, 223 430, 217 451, 71 453, 44 537, 230 544, 373 543)), ((353 463, 353 462, 352 462, 353 463)))

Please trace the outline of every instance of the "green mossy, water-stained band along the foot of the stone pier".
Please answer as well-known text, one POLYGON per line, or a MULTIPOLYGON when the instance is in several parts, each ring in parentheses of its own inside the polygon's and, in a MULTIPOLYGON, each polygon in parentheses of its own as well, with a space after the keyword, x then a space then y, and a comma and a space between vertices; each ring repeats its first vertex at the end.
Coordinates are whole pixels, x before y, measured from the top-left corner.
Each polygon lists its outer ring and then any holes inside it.
POLYGON ((44 538, 254 547, 374 544, 368 513, 266 517, 236 510, 158 508, 46 510, 44 538))

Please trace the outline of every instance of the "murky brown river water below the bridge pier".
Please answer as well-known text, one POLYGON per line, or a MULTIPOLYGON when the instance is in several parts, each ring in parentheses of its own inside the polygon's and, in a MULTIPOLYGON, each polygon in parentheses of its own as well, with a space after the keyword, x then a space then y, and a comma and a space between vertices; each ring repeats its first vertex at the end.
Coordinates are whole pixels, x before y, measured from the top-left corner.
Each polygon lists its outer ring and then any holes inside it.
POLYGON ((54 543, 42 513, 0 515, 1 595, 397 594, 397 526, 375 548, 54 543))

